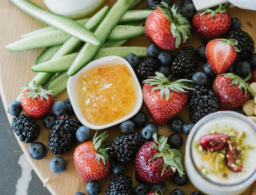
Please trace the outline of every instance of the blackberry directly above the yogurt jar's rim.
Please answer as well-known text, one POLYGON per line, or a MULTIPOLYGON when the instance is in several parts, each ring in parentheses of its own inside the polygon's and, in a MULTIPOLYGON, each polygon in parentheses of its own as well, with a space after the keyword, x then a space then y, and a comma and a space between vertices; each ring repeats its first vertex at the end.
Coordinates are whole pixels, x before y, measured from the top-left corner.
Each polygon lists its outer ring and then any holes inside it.
POLYGON ((189 91, 189 116, 192 122, 197 122, 204 116, 217 112, 218 99, 212 90, 197 85, 189 91))

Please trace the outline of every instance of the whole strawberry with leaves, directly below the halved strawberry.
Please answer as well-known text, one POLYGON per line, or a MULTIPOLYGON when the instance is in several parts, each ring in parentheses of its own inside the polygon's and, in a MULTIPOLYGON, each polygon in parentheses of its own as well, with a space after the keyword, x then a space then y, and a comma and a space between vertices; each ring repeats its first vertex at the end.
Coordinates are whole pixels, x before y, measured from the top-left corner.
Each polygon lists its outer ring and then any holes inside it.
POLYGON ((251 73, 244 80, 233 73, 226 73, 215 78, 212 89, 219 100, 219 110, 238 108, 249 100, 250 92, 255 95, 249 84, 246 83, 250 77, 251 73))

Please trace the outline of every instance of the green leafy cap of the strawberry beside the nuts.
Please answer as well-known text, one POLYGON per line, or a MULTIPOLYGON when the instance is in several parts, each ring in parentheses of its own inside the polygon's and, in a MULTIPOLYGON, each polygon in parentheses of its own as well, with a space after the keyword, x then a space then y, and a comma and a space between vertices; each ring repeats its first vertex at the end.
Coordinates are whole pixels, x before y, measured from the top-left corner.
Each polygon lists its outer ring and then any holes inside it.
POLYGON ((251 94, 255 95, 255 92, 253 91, 253 89, 250 87, 250 85, 248 83, 246 83, 247 80, 249 80, 251 78, 251 72, 247 75, 247 77, 245 79, 242 79, 240 76, 233 74, 233 73, 226 73, 226 74, 222 74, 227 78, 232 79, 232 82, 230 83, 230 85, 238 85, 239 89, 244 89, 245 91, 245 96, 247 94, 247 90, 251 92, 251 94))

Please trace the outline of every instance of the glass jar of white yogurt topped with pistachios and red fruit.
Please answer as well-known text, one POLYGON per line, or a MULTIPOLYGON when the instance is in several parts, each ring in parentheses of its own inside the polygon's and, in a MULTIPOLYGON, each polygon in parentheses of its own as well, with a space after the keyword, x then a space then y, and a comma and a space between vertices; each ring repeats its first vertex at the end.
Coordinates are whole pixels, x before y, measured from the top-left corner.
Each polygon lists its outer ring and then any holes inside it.
POLYGON ((233 111, 199 120, 186 142, 191 183, 209 195, 237 195, 256 180, 256 125, 233 111))

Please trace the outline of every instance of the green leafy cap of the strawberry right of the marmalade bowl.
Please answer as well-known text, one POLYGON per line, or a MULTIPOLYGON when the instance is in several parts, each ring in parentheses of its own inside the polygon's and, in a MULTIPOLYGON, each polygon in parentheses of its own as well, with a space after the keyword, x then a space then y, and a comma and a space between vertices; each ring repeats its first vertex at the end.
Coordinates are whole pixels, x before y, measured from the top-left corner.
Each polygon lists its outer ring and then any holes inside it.
POLYGON ((151 93, 154 90, 160 89, 160 98, 162 99, 165 95, 166 100, 170 97, 170 90, 181 93, 187 92, 184 89, 194 89, 191 88, 188 82, 192 82, 192 80, 188 79, 179 79, 174 82, 170 82, 170 79, 173 75, 170 75, 168 78, 164 76, 163 73, 155 72, 156 76, 148 76, 148 79, 144 80, 142 83, 146 83, 146 85, 157 85, 153 87, 151 93))

